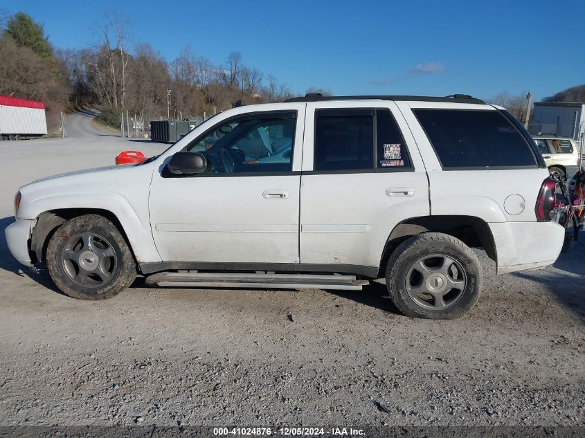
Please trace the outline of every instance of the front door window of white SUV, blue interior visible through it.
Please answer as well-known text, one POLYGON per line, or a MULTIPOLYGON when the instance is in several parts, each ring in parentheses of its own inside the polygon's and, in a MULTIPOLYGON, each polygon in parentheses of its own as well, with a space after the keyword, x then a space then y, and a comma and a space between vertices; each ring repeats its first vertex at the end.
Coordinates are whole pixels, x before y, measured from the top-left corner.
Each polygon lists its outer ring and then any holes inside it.
POLYGON ((208 158, 206 173, 290 172, 295 122, 296 111, 227 120, 185 150, 208 158))

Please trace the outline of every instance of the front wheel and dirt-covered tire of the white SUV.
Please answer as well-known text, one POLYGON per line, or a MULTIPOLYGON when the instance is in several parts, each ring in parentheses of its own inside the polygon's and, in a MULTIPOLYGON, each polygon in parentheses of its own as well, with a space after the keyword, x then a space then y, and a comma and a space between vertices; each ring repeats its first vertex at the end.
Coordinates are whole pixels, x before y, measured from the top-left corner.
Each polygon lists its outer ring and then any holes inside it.
POLYGON ((136 279, 136 262, 124 237, 100 215, 74 217, 48 242, 48 273, 65 295, 105 300, 136 279))

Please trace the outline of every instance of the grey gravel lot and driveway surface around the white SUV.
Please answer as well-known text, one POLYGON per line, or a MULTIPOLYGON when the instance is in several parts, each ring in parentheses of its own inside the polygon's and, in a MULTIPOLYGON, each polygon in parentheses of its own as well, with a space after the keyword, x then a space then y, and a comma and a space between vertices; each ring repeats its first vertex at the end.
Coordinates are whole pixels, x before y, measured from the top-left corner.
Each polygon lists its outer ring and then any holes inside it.
MULTIPOLYGON (((165 145, 100 134, 1 142, 0 224, 19 185, 165 145), (138 146, 138 147, 137 147, 138 146)), ((496 276, 464 318, 362 292, 152 289, 105 302, 21 271, 0 237, 0 425, 585 426, 585 235, 496 276)))

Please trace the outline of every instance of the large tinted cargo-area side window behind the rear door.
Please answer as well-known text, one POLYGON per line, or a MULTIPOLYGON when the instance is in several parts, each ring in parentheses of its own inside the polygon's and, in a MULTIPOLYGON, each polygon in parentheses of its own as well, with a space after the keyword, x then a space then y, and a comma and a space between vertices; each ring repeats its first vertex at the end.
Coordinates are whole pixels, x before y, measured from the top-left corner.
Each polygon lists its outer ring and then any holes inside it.
POLYGON ((532 147, 500 111, 415 109, 445 170, 537 167, 532 147))

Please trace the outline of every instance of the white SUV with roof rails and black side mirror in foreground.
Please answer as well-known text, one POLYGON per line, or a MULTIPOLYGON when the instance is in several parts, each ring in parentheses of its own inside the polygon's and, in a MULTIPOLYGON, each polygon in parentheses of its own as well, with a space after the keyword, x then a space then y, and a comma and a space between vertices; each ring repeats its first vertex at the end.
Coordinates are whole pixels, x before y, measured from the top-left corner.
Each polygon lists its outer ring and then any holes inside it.
POLYGON ((156 286, 361 289, 454 318, 498 273, 555 262, 555 181, 522 125, 467 95, 237 107, 163 154, 25 185, 12 255, 67 295, 156 286), (269 158, 273 157, 273 158, 269 158))

